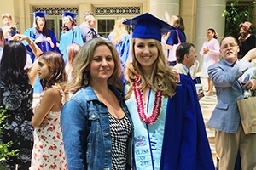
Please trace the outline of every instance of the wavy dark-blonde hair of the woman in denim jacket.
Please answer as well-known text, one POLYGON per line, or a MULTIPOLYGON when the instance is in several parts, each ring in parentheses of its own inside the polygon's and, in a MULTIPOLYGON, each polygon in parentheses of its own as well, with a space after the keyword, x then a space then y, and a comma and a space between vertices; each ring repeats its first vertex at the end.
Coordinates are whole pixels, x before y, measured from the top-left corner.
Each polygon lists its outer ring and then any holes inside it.
POLYGON ((66 93, 74 94, 79 88, 83 88, 90 84, 90 73, 89 71, 86 71, 86 68, 90 65, 90 62, 93 59, 95 49, 101 45, 107 46, 112 53, 114 70, 112 76, 109 78, 113 81, 113 87, 118 88, 120 91, 122 90, 121 64, 119 54, 113 47, 113 43, 105 41, 102 38, 93 38, 80 48, 79 54, 77 54, 73 61, 72 81, 67 83, 65 88, 66 93), (86 81, 89 81, 89 83, 86 83, 86 81))

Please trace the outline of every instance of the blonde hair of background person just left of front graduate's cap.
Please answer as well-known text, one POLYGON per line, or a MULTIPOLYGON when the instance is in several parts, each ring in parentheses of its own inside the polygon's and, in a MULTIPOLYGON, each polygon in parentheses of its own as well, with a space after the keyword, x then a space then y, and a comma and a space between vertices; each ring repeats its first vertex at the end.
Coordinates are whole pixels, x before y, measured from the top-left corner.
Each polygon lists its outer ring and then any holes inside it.
POLYGON ((121 18, 116 21, 115 25, 113 26, 112 34, 112 42, 113 44, 119 44, 119 42, 122 42, 125 35, 129 34, 127 31, 127 26, 123 24, 125 21, 125 18, 121 18))

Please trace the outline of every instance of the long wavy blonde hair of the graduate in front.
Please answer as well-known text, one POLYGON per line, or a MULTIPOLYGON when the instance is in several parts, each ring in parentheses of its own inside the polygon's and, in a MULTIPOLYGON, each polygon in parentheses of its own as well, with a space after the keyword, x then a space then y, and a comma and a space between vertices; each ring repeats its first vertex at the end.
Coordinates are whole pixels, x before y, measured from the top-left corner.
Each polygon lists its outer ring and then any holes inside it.
MULTIPOLYGON (((132 38, 132 49, 131 55, 133 62, 131 63, 127 59, 126 62, 126 69, 125 69, 125 78, 126 81, 130 84, 130 88, 125 94, 125 99, 129 99, 132 93, 132 81, 134 80, 134 75, 137 74, 140 76, 141 79, 141 88, 144 89, 148 86, 156 91, 162 91, 163 94, 167 97, 172 97, 175 94, 176 89, 176 80, 177 75, 172 71, 172 67, 167 66, 166 64, 166 56, 163 53, 162 45, 159 41, 155 40, 156 48, 158 49, 158 58, 154 62, 154 68, 152 71, 152 76, 149 79, 149 82, 146 81, 145 77, 143 76, 143 70, 141 65, 138 63, 135 53, 134 53, 134 45, 137 38, 132 38), (159 86, 161 84, 161 86, 159 86)), ((129 56, 131 57, 131 56, 129 56)), ((140 81, 140 80, 138 80, 140 81)))

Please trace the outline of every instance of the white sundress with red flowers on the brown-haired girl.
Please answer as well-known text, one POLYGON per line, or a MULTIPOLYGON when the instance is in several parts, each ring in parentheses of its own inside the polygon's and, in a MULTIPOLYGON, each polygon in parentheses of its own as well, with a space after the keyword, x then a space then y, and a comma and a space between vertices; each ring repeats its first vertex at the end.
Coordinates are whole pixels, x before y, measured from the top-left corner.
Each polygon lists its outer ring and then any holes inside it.
MULTIPOLYGON (((59 90, 63 99, 63 91, 57 84, 52 86, 59 90)), ((44 92, 48 88, 44 88, 44 92)), ((41 99, 44 96, 41 95, 41 99)), ((37 107, 40 104, 37 105, 37 107)), ((64 146, 62 141, 61 111, 49 111, 48 115, 44 118, 47 125, 40 125, 34 131, 34 146, 32 150, 32 165, 30 170, 40 169, 67 169, 64 146)))

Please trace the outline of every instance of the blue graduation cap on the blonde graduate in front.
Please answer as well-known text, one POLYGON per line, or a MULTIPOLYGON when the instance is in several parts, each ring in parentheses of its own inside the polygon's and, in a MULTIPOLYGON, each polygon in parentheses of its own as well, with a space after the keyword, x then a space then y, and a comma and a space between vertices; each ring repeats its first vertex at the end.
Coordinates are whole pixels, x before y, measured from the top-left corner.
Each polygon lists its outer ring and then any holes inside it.
POLYGON ((174 27, 165 21, 149 13, 144 13, 131 20, 126 20, 123 24, 134 27, 132 37, 156 39, 158 41, 161 41, 161 34, 175 30, 174 27))

